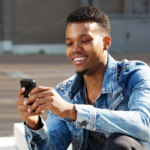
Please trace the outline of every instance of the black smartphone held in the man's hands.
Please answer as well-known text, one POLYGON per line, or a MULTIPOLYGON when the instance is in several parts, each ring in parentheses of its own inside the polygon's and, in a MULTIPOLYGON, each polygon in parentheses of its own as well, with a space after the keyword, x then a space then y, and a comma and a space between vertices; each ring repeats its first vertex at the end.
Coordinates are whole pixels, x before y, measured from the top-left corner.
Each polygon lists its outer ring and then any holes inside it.
POLYGON ((25 87, 26 90, 23 93, 24 97, 28 97, 30 91, 36 87, 36 82, 33 79, 22 79, 20 80, 21 87, 25 87))

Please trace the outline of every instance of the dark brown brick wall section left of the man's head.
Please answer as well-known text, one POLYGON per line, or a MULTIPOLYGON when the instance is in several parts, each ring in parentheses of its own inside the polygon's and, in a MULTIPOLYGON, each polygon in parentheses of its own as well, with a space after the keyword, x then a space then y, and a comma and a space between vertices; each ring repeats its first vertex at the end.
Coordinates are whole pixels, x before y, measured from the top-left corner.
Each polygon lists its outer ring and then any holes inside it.
POLYGON ((79 0, 14 0, 14 44, 64 43, 67 15, 79 0))

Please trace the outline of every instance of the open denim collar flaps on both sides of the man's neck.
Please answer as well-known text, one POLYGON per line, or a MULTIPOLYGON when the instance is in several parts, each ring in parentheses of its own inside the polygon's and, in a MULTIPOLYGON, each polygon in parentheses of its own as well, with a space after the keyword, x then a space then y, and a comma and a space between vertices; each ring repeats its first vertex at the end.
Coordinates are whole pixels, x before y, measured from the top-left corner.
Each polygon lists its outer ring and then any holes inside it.
MULTIPOLYGON (((70 95, 75 95, 76 92, 83 87, 83 76, 76 74, 68 89, 70 95)), ((117 61, 115 61, 109 54, 107 59, 107 66, 103 79, 102 94, 112 93, 117 82, 117 61)))

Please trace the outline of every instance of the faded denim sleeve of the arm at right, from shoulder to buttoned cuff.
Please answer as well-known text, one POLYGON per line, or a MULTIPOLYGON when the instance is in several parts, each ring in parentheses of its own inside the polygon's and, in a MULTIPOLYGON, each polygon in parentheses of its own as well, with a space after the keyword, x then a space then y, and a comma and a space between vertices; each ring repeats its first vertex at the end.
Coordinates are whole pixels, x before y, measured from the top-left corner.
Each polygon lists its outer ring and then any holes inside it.
POLYGON ((148 67, 142 67, 133 65, 124 73, 125 86, 130 92, 129 111, 111 111, 76 104, 76 127, 110 134, 123 133, 142 141, 149 141, 150 71, 148 67), (86 124, 83 124, 83 121, 86 121, 86 124))

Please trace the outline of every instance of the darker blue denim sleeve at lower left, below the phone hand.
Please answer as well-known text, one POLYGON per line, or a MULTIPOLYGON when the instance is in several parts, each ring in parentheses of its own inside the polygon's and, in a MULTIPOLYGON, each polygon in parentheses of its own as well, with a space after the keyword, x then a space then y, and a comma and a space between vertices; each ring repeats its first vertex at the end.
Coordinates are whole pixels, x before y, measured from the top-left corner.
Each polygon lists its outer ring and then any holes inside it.
POLYGON ((43 127, 32 130, 25 126, 25 138, 29 150, 64 150, 67 149, 71 136, 66 123, 59 119, 53 112, 44 122, 40 117, 43 127))

